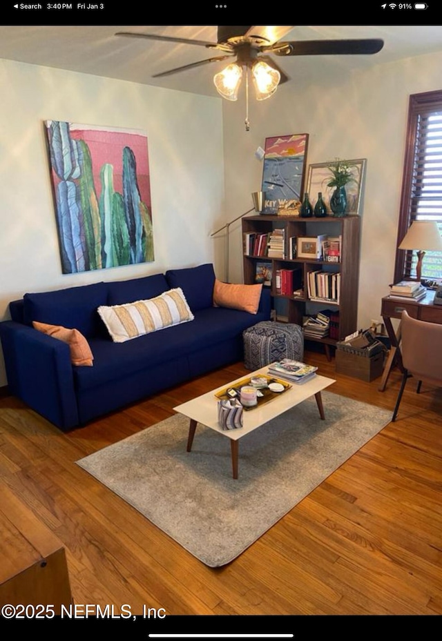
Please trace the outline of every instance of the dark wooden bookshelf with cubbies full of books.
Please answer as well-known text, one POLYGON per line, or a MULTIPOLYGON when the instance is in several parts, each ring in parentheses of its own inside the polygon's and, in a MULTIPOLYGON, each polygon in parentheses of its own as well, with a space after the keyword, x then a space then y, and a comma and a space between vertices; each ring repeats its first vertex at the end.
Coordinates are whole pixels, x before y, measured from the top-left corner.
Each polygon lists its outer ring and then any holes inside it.
MULTIPOLYGON (((342 218, 300 218, 298 216, 256 215, 242 219, 243 239, 247 234, 270 235, 275 228, 284 230, 284 257, 268 257, 267 255, 247 254, 244 245, 244 283, 253 284, 256 277, 256 264, 269 262, 271 264, 271 296, 273 299, 287 300, 288 322, 302 325, 302 318, 316 313, 320 309, 339 311, 338 338, 324 337, 316 340, 325 346, 336 344, 347 335, 356 331, 358 312, 358 283, 359 283, 359 246, 360 222, 358 216, 342 218), (312 257, 291 257, 290 239, 298 237, 340 237, 340 257, 336 262, 312 257), (276 290, 276 271, 280 269, 296 270, 294 272, 294 288, 302 288, 303 295, 295 297, 293 293, 283 295, 276 290), (309 273, 323 271, 329 274, 339 274, 339 298, 337 300, 323 299, 314 301, 309 296, 307 286, 309 273)), ((296 243, 295 243, 296 244, 296 243)))

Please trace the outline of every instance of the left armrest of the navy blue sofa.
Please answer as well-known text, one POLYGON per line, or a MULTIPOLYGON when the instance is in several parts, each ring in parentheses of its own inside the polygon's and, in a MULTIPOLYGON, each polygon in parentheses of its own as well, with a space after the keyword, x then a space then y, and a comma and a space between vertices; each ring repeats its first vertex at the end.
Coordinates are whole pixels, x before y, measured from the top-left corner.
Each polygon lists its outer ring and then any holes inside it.
POLYGON ((11 393, 62 430, 78 425, 68 344, 14 321, 0 339, 11 393))

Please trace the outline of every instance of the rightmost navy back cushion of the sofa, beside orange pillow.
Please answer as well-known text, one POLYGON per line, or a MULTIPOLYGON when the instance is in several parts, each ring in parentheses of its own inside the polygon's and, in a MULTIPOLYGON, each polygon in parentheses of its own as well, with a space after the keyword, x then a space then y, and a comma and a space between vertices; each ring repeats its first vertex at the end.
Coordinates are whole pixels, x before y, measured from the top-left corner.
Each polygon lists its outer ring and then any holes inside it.
POLYGON ((193 312, 212 306, 215 271, 211 263, 198 267, 169 269, 166 271, 166 279, 169 287, 182 288, 193 312))

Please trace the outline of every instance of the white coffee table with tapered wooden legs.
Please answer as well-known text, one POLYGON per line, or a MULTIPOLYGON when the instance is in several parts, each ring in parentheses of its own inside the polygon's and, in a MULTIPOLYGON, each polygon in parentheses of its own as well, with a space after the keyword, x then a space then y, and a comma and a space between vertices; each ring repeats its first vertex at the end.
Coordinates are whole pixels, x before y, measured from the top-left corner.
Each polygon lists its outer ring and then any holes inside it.
MULTIPOLYGON (((258 376, 260 374, 268 374, 269 366, 262 367, 255 372, 251 372, 248 377, 258 376)), ((230 439, 231 442, 231 457, 232 457, 232 471, 233 478, 238 478, 238 448, 239 440, 246 434, 249 434, 257 427, 267 423, 271 419, 286 412, 292 407, 302 403, 311 396, 316 398, 318 404, 319 415, 322 420, 325 419, 323 400, 321 391, 332 385, 335 381, 332 378, 316 375, 308 382, 297 385, 291 384, 291 388, 281 393, 278 397, 270 400, 260 406, 251 410, 244 411, 244 425, 242 428, 234 430, 223 430, 218 423, 218 399, 215 393, 224 390, 227 387, 234 387, 238 382, 242 381, 244 376, 237 378, 226 385, 222 385, 206 394, 202 394, 191 401, 177 405, 173 409, 189 417, 189 437, 187 440, 187 451, 190 452, 193 444, 193 437, 198 423, 209 427, 223 436, 230 439)))

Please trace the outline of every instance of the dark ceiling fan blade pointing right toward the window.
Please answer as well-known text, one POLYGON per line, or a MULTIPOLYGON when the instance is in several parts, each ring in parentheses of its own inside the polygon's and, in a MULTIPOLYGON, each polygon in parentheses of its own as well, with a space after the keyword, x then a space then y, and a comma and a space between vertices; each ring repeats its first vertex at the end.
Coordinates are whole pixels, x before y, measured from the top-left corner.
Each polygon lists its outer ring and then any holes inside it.
POLYGON ((274 48, 266 49, 277 56, 316 56, 316 55, 358 55, 373 54, 381 51, 381 39, 360 40, 299 40, 297 42, 277 42, 274 48))

